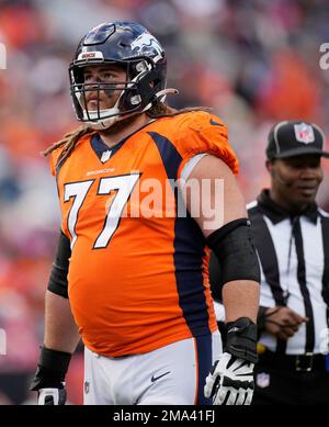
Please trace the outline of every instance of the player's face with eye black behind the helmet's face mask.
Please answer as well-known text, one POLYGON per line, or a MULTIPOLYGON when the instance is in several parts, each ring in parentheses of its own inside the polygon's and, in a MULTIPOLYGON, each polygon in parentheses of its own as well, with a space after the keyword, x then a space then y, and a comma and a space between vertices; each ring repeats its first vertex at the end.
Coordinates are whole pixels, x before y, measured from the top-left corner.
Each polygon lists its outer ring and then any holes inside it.
POLYGON ((126 81, 126 71, 116 65, 90 66, 83 69, 86 106, 89 111, 115 105, 126 81), (105 83, 102 86, 102 83, 105 83), (111 87, 109 86, 111 85, 111 87), (107 86, 106 86, 107 85, 107 86), (101 89, 98 91, 98 89, 101 89))

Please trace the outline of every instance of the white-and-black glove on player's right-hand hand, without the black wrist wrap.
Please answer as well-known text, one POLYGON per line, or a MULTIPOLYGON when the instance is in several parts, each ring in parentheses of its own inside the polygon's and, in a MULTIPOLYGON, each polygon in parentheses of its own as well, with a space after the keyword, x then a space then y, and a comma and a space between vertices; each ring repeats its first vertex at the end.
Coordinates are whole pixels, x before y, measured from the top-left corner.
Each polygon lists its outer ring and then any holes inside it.
POLYGON ((254 363, 224 352, 206 378, 204 395, 214 405, 250 405, 254 389, 254 363))

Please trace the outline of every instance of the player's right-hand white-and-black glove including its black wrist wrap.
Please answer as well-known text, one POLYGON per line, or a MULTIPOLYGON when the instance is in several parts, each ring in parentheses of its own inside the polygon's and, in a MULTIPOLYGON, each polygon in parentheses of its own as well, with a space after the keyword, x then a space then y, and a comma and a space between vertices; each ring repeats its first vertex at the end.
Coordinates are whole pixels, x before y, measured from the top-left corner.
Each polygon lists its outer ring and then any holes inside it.
POLYGON ((247 317, 227 325, 224 353, 206 378, 205 397, 214 405, 250 405, 254 389, 253 368, 257 356, 257 326, 247 317))

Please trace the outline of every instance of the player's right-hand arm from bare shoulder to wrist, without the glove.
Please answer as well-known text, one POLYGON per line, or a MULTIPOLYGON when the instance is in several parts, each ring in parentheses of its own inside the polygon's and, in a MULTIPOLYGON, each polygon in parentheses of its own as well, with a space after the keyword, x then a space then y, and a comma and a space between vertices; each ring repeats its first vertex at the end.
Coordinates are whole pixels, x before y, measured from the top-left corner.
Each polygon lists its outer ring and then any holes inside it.
MULTIPOLYGON (((220 188, 220 182, 217 189, 220 188)), ((226 322, 249 317, 256 323, 259 307, 260 270, 256 250, 250 240, 246 202, 235 176, 223 160, 207 155, 194 167, 185 187, 192 189, 191 196, 188 194, 186 198, 186 207, 189 212, 193 212, 193 204, 198 204, 200 215, 194 220, 203 231, 206 241, 214 250, 222 268, 224 282, 222 294, 226 322), (193 186, 192 180, 200 182, 198 188, 202 189, 202 192, 193 191, 193 187, 196 188, 196 186, 193 186), (202 187, 203 180, 208 180, 211 186, 202 187), (223 183, 223 201, 217 201, 219 209, 223 207, 222 212, 214 209, 216 206, 215 198, 218 196, 215 180, 217 183, 219 180, 223 183), (211 191, 207 191, 208 188, 211 191), (206 206, 212 206, 213 212, 206 206), (246 252, 243 257, 245 248, 248 254, 246 252), (249 252, 252 254, 249 256, 249 252)))

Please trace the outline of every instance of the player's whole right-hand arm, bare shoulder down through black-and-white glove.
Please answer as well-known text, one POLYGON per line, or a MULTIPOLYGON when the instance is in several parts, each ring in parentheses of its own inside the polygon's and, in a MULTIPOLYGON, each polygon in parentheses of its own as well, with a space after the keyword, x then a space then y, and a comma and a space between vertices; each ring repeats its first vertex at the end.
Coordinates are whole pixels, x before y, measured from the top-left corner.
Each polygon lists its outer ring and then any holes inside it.
POLYGON ((235 176, 219 158, 204 156, 190 173, 188 188, 189 183, 192 189, 197 187, 192 180, 200 182, 202 191, 192 190, 188 194, 186 207, 192 215, 195 203, 198 204, 200 215, 194 220, 203 231, 207 246, 218 258, 227 326, 224 353, 218 355, 218 361, 207 378, 205 395, 212 396, 214 404, 250 404, 257 361, 260 269, 246 203, 235 176), (202 186, 203 180, 208 180, 209 186, 202 186), (222 180, 217 181, 218 188, 222 186, 223 189, 219 202, 216 200, 216 180, 222 180), (214 209, 216 202, 218 209, 214 209), (212 206, 213 212, 206 206, 212 206))

